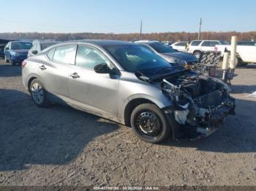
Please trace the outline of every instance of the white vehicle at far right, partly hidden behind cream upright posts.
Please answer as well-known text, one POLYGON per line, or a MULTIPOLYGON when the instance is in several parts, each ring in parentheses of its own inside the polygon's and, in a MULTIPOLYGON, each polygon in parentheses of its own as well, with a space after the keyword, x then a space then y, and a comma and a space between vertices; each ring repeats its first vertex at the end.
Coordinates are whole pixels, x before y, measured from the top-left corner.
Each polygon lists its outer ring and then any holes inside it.
MULTIPOLYGON (((223 57, 225 51, 230 51, 230 45, 217 45, 216 50, 221 52, 223 57)), ((236 56, 238 58, 238 66, 246 66, 248 63, 256 63, 256 46, 237 45, 236 56)))

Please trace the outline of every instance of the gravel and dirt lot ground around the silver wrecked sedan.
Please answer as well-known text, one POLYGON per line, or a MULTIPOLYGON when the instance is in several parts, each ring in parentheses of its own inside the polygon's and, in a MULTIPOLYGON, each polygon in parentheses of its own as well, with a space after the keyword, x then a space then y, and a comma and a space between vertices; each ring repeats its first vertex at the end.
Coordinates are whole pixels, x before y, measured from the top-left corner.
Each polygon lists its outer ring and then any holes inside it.
POLYGON ((206 139, 148 144, 65 106, 40 109, 0 64, 0 186, 256 185, 256 65, 236 69, 236 115, 206 139))

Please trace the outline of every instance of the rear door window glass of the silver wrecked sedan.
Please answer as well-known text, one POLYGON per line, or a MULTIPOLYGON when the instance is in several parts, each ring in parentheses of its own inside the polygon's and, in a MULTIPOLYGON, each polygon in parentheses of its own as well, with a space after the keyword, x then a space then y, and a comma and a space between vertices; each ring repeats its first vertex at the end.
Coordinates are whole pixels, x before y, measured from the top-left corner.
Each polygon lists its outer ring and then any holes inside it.
POLYGON ((77 45, 63 45, 56 47, 53 55, 53 61, 58 63, 75 64, 75 53, 77 45))

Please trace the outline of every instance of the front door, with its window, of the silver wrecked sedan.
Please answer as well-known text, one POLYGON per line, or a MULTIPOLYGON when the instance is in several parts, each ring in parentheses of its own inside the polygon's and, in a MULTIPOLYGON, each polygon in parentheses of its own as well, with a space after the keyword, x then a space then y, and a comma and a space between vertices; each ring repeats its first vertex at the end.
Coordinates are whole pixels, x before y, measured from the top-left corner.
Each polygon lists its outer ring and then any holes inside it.
POLYGON ((75 66, 69 73, 69 94, 72 104, 98 114, 116 117, 118 109, 118 75, 98 74, 94 66, 113 63, 96 47, 80 44, 75 66))

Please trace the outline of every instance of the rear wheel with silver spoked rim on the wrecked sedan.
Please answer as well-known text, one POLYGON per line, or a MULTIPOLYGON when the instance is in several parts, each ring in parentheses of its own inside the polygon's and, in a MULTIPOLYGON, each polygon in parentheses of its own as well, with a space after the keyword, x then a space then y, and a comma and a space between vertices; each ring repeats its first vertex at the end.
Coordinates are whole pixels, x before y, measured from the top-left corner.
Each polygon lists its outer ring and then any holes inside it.
POLYGON ((50 102, 47 98, 47 91, 39 79, 33 79, 29 86, 29 92, 31 93, 31 98, 34 101, 34 104, 39 107, 50 106, 50 102))

